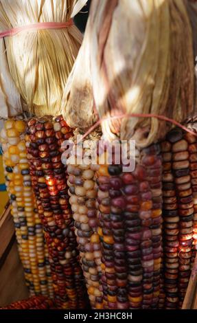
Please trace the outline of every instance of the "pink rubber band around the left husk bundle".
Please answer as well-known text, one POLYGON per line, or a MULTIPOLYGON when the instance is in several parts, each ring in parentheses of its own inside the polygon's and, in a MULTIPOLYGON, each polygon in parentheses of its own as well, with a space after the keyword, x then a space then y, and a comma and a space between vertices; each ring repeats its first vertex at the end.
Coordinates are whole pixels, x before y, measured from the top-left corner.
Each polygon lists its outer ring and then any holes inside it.
POLYGON ((5 32, 0 32, 0 38, 14 36, 19 34, 19 32, 29 32, 32 30, 49 30, 49 29, 63 29, 73 25, 73 19, 66 21, 65 23, 31 23, 30 25, 25 25, 21 27, 11 28, 5 30, 5 32))

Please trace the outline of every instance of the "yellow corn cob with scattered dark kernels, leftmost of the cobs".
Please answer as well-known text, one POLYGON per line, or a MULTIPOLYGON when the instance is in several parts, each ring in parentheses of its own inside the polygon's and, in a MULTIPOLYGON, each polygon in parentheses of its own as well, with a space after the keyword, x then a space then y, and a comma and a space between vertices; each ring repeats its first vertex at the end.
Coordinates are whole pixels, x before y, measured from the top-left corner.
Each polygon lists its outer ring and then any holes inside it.
POLYGON ((19 254, 31 295, 53 297, 45 239, 36 210, 24 141, 25 122, 5 121, 1 131, 5 183, 10 197, 19 254))

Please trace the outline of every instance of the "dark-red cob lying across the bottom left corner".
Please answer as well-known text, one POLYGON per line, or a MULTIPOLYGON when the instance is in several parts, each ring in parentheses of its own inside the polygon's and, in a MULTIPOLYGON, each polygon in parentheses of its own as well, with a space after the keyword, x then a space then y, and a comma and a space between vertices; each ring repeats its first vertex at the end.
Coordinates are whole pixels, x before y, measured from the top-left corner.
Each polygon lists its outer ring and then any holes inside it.
POLYGON ((55 309, 55 305, 45 296, 32 296, 28 300, 19 300, 0 309, 55 309))

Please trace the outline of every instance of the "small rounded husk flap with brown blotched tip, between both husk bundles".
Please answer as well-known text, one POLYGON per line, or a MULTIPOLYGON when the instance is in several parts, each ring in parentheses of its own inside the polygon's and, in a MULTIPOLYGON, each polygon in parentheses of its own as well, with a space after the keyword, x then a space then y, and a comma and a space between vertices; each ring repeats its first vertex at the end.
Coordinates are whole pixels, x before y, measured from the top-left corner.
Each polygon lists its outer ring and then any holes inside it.
POLYGON ((89 45, 84 39, 62 98, 62 115, 71 128, 86 129, 95 120, 89 45))

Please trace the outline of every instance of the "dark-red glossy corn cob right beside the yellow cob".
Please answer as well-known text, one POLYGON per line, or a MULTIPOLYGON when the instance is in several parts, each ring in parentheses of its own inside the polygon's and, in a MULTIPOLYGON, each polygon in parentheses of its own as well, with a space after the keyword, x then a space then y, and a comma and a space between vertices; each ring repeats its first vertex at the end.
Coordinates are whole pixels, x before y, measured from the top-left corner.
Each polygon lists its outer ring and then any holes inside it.
POLYGON ((67 169, 61 162, 62 140, 71 129, 62 117, 31 119, 25 142, 38 214, 49 250, 55 302, 62 309, 83 308, 82 272, 69 208, 67 169))

